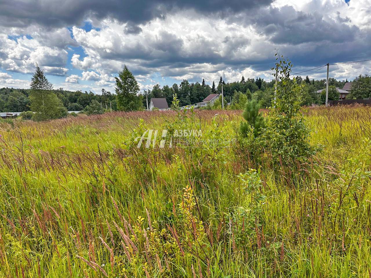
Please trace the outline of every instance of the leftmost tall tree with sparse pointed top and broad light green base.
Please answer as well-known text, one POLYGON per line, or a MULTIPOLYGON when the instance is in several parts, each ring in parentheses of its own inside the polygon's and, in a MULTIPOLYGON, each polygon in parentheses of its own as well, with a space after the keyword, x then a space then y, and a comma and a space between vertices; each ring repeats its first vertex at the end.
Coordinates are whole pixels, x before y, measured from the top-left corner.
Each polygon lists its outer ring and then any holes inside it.
POLYGON ((58 119, 67 115, 67 109, 63 106, 62 101, 52 92, 53 85, 36 63, 35 73, 31 78, 31 110, 34 113, 34 120, 58 119))

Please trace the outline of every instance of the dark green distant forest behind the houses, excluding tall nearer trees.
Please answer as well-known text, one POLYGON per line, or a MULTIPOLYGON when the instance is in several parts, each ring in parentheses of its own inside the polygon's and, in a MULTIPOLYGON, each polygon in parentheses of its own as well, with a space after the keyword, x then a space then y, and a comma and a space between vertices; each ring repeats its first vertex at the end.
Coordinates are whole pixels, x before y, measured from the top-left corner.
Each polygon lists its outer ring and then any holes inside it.
MULTIPOLYGON (((304 101, 303 105, 323 104, 324 97, 316 93, 317 90, 325 88, 325 79, 309 80, 308 76, 302 78, 296 77, 298 83, 304 85, 304 101)), ((346 81, 338 81, 334 78, 329 79, 329 86, 342 88, 346 81)), ((173 94, 176 93, 180 100, 180 106, 191 105, 201 102, 206 96, 211 93, 221 93, 221 85, 223 84, 224 97, 229 102, 232 100, 235 92, 242 92, 247 95, 248 99, 256 99, 262 107, 270 106, 271 96, 275 85, 274 80, 265 82, 261 78, 244 78, 238 82, 227 83, 220 77, 219 83, 215 85, 206 85, 205 81, 201 83, 190 83, 188 80, 183 80, 179 85, 173 86, 165 85, 162 88, 160 85, 155 85, 152 90, 144 90, 141 92, 143 96, 143 106, 146 107, 146 96, 148 96, 148 103, 152 97, 165 97, 169 106, 173 100, 173 94)), ((0 111, 1 112, 23 112, 30 110, 30 89, 0 89, 0 111)), ((102 89, 101 94, 82 91, 68 91, 63 88, 53 90, 63 105, 69 111, 84 110, 92 100, 96 100, 101 104, 103 109, 117 110, 115 93, 108 92, 102 89)))

